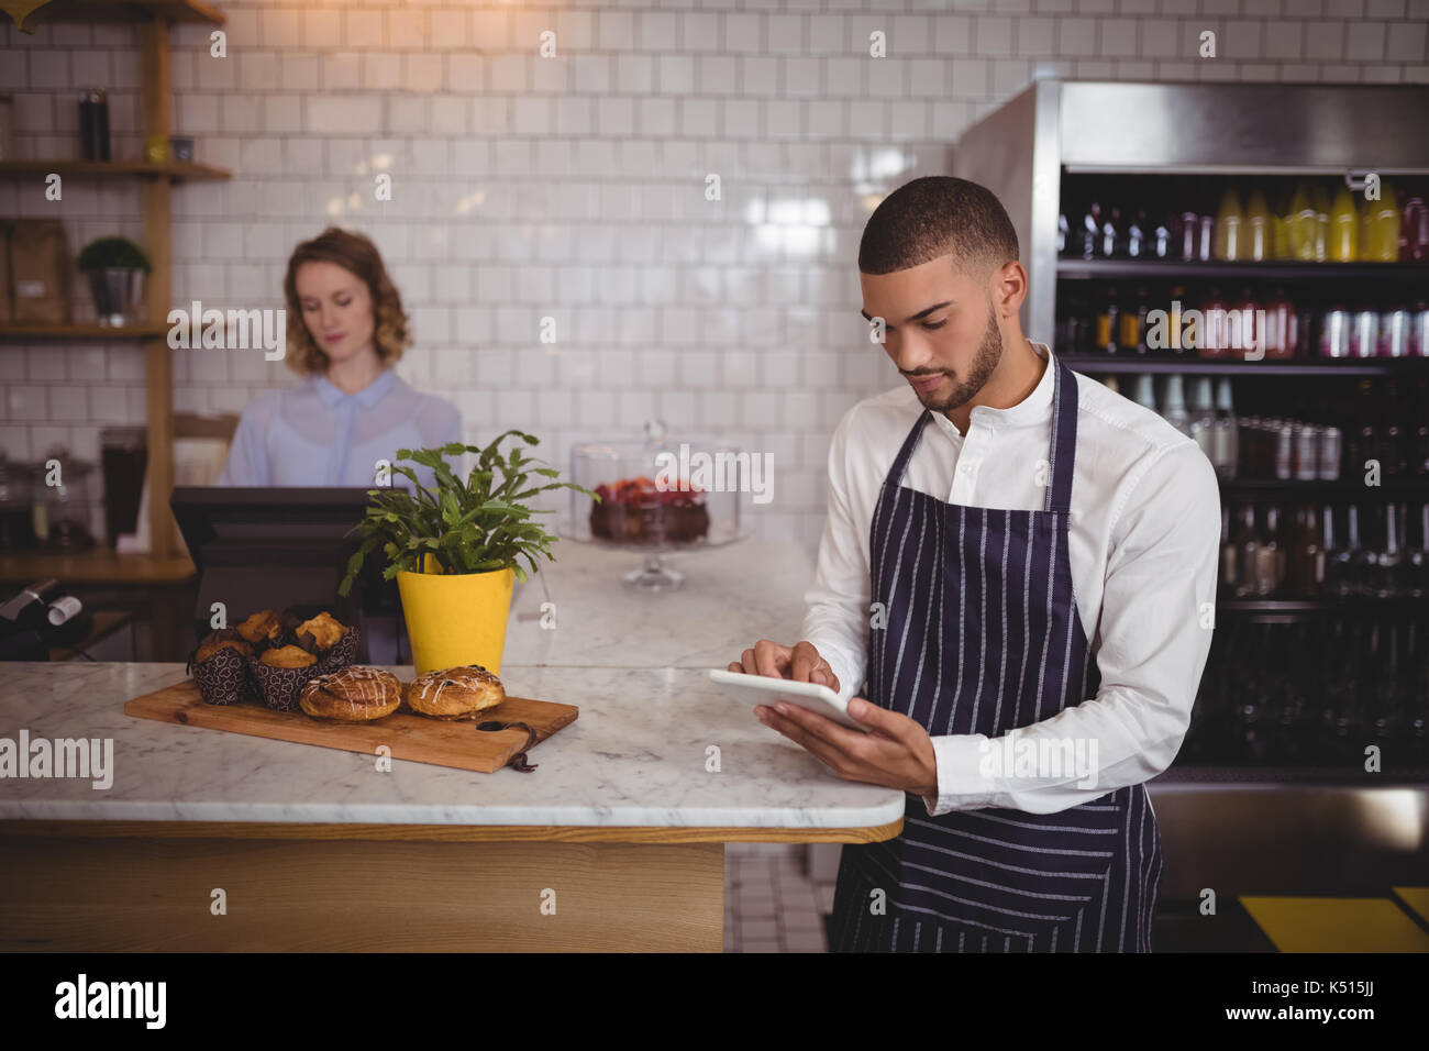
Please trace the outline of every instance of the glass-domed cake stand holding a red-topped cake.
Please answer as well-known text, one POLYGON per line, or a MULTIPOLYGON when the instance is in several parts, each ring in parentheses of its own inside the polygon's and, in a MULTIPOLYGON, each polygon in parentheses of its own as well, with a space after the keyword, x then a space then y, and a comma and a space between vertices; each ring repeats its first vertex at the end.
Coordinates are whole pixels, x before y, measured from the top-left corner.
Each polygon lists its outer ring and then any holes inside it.
POLYGON ((643 442, 586 442, 570 452, 569 479, 597 503, 570 490, 570 518, 560 533, 582 543, 637 552, 643 565, 624 586, 673 591, 684 575, 672 552, 719 548, 747 536, 740 498, 749 492, 749 455, 727 442, 667 439, 663 420, 644 425, 643 442))

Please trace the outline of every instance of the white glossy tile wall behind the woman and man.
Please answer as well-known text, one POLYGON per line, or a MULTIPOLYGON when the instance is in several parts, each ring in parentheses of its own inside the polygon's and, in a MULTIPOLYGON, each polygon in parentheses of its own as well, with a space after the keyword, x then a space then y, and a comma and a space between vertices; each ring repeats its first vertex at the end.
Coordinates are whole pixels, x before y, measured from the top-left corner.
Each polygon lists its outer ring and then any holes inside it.
MULTIPOLYGON (((233 170, 174 194, 176 303, 282 306, 296 242, 360 229, 413 320, 399 372, 452 399, 467 440, 524 428, 566 466, 572 443, 656 413, 773 453, 753 529, 810 548, 833 425, 899 382, 859 317, 869 194, 946 172, 957 134, 1037 76, 1429 83, 1429 0, 221 7, 227 57, 211 27, 173 30, 174 132, 233 170), (1198 57, 1208 29, 1215 60, 1198 57)), ((139 156, 137 43, 0 29, 17 154, 73 156, 76 93, 101 84, 114 154, 139 156)), ((136 184, 70 179, 56 203, 0 180, 0 216, 56 214, 76 250, 141 235, 136 184)), ((181 412, 293 380, 254 352, 176 352, 181 412)), ((100 429, 143 412, 136 345, 0 346, 11 458, 96 460, 100 429)))

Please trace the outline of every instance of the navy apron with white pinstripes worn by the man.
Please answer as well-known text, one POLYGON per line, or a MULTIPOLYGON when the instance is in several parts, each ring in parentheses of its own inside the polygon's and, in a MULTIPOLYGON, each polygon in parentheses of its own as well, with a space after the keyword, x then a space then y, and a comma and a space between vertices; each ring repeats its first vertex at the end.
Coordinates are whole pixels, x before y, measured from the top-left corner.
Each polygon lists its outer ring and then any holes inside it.
MULTIPOLYGON (((933 736, 999 738, 1096 696, 1100 675, 1067 558, 1077 385, 1062 362, 1049 367, 1042 510, 970 508, 903 488, 927 409, 873 510, 872 595, 886 616, 870 631, 865 696, 933 736)), ((896 839, 845 845, 830 948, 1149 952, 1162 868, 1143 785, 1057 814, 987 808, 930 818, 909 794, 896 839)))

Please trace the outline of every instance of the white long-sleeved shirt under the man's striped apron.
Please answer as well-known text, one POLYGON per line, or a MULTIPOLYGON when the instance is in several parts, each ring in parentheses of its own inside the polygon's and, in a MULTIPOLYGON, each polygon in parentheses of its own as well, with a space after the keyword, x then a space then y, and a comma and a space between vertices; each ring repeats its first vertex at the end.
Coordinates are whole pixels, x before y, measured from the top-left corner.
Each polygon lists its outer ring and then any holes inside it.
MULTIPOLYGON (((1039 480, 1050 478, 1039 479, 1029 465, 1049 453, 1056 370, 1050 349, 1032 346, 1049 359, 1036 389, 1007 409, 975 406, 966 435, 935 412, 905 486, 950 503, 1043 508, 1039 480)), ((1166 769, 1190 725, 1216 601, 1216 475, 1196 442, 1155 412, 1087 376, 1076 380, 1067 545, 1076 606, 1102 685, 1093 699, 1019 729, 1016 739, 1080 739, 1087 756, 1095 741, 1096 779, 1079 786, 1080 775, 985 776, 985 735, 933 736, 937 795, 923 796, 930 815, 985 806, 1053 814, 1090 802, 1166 769)), ((905 383, 849 409, 829 448, 829 518, 805 595, 803 638, 833 666, 843 698, 860 689, 867 671, 873 506, 922 410, 905 383)))

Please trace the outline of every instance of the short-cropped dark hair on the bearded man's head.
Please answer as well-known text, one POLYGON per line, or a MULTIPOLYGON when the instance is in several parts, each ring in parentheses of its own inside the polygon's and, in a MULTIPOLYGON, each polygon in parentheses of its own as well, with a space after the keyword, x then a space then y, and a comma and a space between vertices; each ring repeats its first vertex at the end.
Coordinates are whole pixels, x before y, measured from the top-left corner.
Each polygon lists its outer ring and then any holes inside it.
POLYGON ((975 273, 1017 259, 1017 232, 986 186, 952 176, 903 183, 869 216, 859 242, 859 270, 893 273, 952 255, 975 273))

